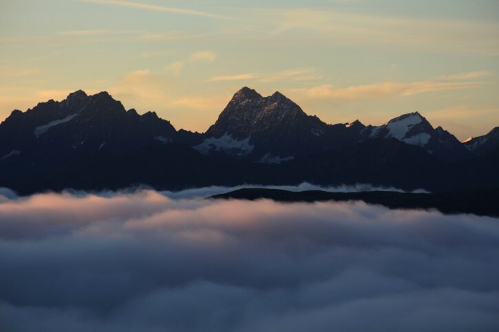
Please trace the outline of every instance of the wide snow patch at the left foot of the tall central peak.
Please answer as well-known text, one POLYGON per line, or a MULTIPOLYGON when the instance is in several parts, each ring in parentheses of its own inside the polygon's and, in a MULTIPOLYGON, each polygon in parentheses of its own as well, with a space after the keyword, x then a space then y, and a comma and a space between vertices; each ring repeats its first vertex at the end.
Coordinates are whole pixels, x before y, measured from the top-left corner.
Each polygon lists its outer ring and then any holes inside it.
POLYGON ((225 133, 219 138, 206 138, 201 144, 193 146, 193 148, 204 155, 211 151, 221 151, 229 155, 243 156, 248 155, 255 148, 249 141, 250 137, 246 137, 244 140, 236 140, 228 133, 225 133))

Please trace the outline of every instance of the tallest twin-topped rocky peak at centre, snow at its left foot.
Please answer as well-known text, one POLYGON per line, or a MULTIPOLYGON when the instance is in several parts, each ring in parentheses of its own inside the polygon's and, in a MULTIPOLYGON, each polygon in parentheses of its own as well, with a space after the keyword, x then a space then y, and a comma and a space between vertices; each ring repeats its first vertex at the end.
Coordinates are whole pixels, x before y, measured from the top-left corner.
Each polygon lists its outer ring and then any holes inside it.
POLYGON ((302 155, 337 150, 357 142, 363 125, 330 125, 307 115, 295 102, 275 92, 262 97, 248 87, 237 91, 194 148, 259 162, 282 162, 302 155))

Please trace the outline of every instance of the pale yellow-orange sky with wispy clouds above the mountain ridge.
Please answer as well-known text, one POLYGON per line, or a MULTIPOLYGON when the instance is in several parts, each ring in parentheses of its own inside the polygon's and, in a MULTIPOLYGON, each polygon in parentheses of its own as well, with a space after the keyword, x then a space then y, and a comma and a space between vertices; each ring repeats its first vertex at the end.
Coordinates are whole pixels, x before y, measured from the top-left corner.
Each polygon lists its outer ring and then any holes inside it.
POLYGON ((497 0, 0 0, 0 120, 109 91, 206 131, 235 91, 328 123, 419 111, 463 140, 499 126, 497 0))

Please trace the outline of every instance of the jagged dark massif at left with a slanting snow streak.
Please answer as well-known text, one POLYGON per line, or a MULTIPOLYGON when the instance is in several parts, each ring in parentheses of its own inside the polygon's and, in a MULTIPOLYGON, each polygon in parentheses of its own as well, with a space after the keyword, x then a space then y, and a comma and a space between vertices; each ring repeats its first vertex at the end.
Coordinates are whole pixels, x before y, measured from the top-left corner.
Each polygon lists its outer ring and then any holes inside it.
POLYGON ((25 113, 13 111, 0 124, 0 157, 67 151, 132 151, 153 140, 167 142, 176 130, 156 113, 138 115, 107 92, 87 96, 71 93, 62 102, 42 102, 25 113))

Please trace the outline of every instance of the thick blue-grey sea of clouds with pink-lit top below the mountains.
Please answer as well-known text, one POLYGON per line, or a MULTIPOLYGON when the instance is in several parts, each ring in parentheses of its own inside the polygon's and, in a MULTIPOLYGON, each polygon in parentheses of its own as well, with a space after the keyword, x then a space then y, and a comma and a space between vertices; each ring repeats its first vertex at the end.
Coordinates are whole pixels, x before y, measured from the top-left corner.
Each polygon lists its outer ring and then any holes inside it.
POLYGON ((497 331, 499 220, 365 203, 0 199, 0 331, 497 331))

